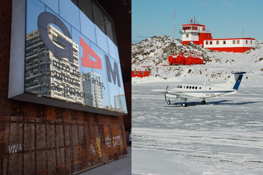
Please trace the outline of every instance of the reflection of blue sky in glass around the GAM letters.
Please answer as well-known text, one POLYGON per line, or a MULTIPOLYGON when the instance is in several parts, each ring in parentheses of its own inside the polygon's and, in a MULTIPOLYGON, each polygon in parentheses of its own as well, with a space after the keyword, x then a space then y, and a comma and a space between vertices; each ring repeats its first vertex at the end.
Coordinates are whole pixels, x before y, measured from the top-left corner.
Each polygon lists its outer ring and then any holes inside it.
MULTIPOLYGON (((103 83, 103 106, 115 107, 115 95, 124 94, 120 61, 117 46, 93 23, 86 17, 81 10, 70 0, 27 0, 27 26, 26 33, 30 33, 38 29, 37 19, 40 13, 46 11, 56 15, 66 25, 72 36, 72 41, 79 45, 79 71, 82 73, 96 72, 101 75, 101 82, 103 83), (44 3, 42 3, 42 2, 44 3), (59 2, 58 2, 59 1, 59 2), (59 15, 61 16, 58 16, 59 15), (81 33, 80 33, 81 32, 81 33), (80 46, 81 37, 87 45, 101 58, 103 69, 92 69, 82 67, 81 57, 83 57, 83 48, 80 46), (95 44, 94 44, 95 43, 95 44), (121 88, 118 87, 117 78, 116 85, 108 82, 107 69, 105 65, 105 54, 110 58, 112 69, 114 69, 114 61, 118 64, 121 88), (109 88, 109 90, 108 90, 109 88), (110 97, 109 97, 110 94, 110 97)), ((52 24, 56 29, 61 31, 56 25, 52 24)), ((62 32, 62 31, 61 31, 62 32)), ((62 32, 63 33, 63 32, 62 32)), ((92 58, 91 58, 92 59, 92 58)), ((94 58, 92 59, 94 60, 94 58)))

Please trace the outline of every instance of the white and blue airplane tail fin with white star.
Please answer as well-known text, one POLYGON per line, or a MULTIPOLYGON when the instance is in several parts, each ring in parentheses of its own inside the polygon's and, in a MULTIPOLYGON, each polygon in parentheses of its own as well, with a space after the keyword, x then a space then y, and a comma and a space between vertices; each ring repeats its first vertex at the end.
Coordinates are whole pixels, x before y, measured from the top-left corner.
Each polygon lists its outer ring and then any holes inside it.
POLYGON ((231 72, 232 75, 229 78, 229 80, 224 84, 224 88, 229 88, 229 89, 236 89, 238 90, 238 87, 241 83, 241 80, 243 78, 243 74, 247 73, 247 72, 231 72))

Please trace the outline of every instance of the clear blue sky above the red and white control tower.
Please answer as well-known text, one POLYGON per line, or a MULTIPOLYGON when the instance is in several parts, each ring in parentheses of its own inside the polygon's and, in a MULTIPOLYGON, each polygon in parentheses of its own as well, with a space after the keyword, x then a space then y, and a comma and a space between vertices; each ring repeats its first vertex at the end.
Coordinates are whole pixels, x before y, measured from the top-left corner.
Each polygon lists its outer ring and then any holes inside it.
POLYGON ((210 30, 213 38, 251 37, 263 40, 263 1, 259 0, 132 0, 131 43, 155 35, 176 38, 182 24, 195 15, 210 30))

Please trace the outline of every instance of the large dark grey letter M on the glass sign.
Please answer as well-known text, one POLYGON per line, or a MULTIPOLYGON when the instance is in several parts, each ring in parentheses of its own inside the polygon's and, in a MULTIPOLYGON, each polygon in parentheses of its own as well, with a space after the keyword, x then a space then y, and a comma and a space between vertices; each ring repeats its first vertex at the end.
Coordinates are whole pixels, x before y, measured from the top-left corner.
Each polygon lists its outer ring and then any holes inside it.
POLYGON ((116 77, 117 77, 118 86, 121 87, 120 86, 120 75, 119 75, 119 70, 118 70, 118 64, 116 62, 114 62, 114 67, 112 70, 112 67, 110 64, 110 59, 107 55, 105 55, 105 59, 106 59, 108 81, 111 83, 111 77, 110 77, 110 74, 111 74, 114 84, 116 85, 116 77))

